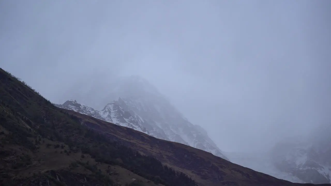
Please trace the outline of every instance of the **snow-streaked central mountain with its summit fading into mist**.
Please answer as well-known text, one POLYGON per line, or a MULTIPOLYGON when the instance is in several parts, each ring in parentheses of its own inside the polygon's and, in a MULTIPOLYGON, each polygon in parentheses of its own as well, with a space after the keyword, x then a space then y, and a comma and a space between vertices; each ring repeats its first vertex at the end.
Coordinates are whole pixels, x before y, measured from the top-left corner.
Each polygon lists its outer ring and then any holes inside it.
POLYGON ((190 145, 227 159, 199 125, 187 120, 157 88, 139 76, 116 81, 106 100, 115 100, 103 110, 69 100, 57 107, 133 128, 151 136, 190 145))

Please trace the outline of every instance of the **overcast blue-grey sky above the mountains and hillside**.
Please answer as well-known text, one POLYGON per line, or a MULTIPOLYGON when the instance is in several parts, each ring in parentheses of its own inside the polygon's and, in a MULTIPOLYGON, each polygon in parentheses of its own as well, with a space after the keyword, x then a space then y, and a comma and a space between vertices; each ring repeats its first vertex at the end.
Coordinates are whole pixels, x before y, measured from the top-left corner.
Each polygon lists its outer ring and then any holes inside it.
POLYGON ((223 151, 260 150, 330 123, 330 5, 3 0, 0 65, 61 104, 138 74, 223 151))

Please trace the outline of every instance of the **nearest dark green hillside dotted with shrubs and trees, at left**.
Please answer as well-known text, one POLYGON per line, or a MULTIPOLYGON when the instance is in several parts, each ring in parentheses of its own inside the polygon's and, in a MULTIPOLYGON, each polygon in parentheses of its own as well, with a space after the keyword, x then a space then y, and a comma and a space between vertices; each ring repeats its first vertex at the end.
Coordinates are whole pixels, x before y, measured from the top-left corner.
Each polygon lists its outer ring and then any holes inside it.
POLYGON ((0 70, 0 185, 196 185, 92 129, 0 70))

